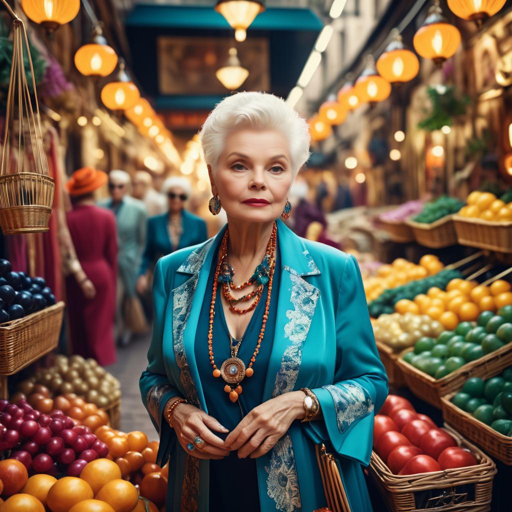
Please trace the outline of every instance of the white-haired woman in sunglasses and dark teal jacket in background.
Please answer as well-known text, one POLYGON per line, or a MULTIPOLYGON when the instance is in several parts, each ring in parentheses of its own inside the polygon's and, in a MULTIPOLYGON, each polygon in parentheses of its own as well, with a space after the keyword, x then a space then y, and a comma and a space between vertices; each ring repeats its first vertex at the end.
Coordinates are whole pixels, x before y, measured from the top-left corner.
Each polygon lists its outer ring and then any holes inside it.
POLYGON ((200 244, 208 238, 206 222, 185 209, 191 193, 190 182, 186 178, 167 178, 162 193, 167 197, 168 211, 147 221, 146 248, 137 280, 140 294, 150 288, 153 267, 159 258, 177 249, 200 244))

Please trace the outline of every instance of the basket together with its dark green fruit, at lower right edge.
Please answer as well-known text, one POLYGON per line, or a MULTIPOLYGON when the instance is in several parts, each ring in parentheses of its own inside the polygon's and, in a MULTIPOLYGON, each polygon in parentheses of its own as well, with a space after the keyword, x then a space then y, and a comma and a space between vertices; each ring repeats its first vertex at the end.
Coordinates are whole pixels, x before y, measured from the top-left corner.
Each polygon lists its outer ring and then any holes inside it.
POLYGON ((490 456, 512 465, 512 368, 487 380, 467 379, 441 402, 446 423, 490 456))

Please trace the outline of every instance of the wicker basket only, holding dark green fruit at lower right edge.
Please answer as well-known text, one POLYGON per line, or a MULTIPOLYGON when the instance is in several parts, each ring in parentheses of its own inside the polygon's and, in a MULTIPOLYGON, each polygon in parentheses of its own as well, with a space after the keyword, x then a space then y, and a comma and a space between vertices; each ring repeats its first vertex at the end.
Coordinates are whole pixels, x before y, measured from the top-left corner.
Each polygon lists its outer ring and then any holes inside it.
POLYGON ((500 434, 489 425, 477 420, 472 414, 459 409, 451 402, 454 395, 455 393, 450 393, 441 398, 444 421, 477 443, 490 456, 511 466, 512 437, 500 434))

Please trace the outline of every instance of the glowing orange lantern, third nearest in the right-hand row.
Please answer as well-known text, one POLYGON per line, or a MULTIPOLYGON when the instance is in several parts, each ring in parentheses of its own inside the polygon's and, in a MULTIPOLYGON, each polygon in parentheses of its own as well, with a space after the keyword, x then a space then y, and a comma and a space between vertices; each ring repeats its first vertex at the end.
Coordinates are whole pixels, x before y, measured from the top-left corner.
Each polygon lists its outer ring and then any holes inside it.
POLYGON ((390 83, 408 82, 419 72, 416 55, 403 46, 402 36, 393 29, 394 39, 377 59, 377 71, 390 83))

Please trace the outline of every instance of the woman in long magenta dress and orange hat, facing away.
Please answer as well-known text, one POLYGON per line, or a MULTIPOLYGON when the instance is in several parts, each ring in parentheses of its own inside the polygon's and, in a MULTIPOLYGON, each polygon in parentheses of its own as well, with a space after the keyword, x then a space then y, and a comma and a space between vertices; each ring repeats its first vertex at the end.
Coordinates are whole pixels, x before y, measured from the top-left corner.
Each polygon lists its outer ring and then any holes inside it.
POLYGON ((111 211, 95 206, 93 196, 107 181, 106 173, 86 167, 73 173, 66 184, 73 204, 67 214, 68 226, 80 263, 78 271, 66 269, 73 353, 94 357, 101 366, 116 360, 116 219, 111 211))

